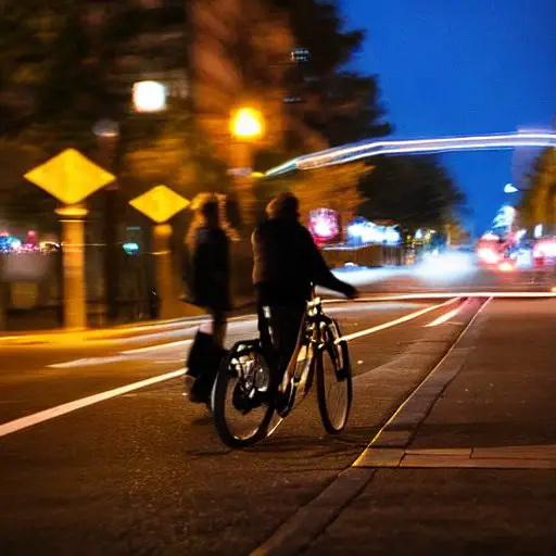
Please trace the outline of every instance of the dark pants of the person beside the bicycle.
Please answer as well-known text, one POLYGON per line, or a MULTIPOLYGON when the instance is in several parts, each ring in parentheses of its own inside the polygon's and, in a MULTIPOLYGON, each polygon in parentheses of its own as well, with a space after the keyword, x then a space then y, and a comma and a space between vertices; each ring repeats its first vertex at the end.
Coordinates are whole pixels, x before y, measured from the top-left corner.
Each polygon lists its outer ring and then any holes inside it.
POLYGON ((305 306, 261 306, 258 307, 258 332, 269 362, 277 372, 278 382, 295 351, 305 306))

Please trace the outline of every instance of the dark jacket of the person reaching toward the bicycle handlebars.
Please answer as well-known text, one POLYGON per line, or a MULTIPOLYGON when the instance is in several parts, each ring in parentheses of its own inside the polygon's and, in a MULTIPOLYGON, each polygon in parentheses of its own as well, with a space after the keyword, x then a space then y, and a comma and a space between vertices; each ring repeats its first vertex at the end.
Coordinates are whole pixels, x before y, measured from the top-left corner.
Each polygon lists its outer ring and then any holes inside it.
POLYGON ((293 218, 271 218, 261 224, 252 239, 253 283, 262 305, 304 305, 312 286, 344 295, 355 290, 328 269, 309 231, 293 218))

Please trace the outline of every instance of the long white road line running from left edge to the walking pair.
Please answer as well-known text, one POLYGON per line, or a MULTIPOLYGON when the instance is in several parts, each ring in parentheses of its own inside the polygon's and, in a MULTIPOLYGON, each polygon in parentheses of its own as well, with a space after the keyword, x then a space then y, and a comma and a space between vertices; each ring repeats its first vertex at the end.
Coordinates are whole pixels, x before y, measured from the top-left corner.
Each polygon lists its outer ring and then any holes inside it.
POLYGON ((104 402, 105 400, 110 400, 112 397, 117 397, 118 395, 132 392, 134 390, 139 390, 140 388, 150 387, 159 382, 164 382, 166 380, 182 377, 185 374, 185 368, 174 370, 173 372, 166 372, 165 375, 151 377, 146 380, 140 380, 139 382, 134 382, 125 387, 108 390, 106 392, 101 392, 100 394, 93 394, 87 397, 81 397, 80 400, 75 400, 74 402, 68 402, 66 404, 58 405, 55 407, 50 407, 49 409, 45 409, 43 412, 28 415, 27 417, 22 417, 13 421, 4 422, 3 425, 0 425, 0 437, 12 434, 13 432, 27 429, 28 427, 33 427, 34 425, 38 425, 39 422, 45 422, 50 419, 54 419, 55 417, 66 415, 77 409, 83 409, 84 407, 98 404, 99 402, 104 402))

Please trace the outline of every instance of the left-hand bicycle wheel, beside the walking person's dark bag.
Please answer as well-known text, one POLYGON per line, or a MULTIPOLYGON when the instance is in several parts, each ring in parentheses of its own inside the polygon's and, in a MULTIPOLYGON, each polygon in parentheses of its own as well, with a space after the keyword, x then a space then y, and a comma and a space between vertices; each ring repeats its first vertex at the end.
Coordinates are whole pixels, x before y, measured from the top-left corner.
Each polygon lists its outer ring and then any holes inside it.
POLYGON ((255 342, 239 343, 224 357, 212 392, 216 432, 230 447, 267 435, 274 414, 270 369, 255 342))

